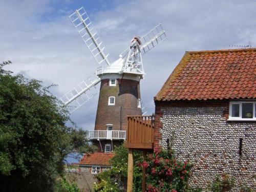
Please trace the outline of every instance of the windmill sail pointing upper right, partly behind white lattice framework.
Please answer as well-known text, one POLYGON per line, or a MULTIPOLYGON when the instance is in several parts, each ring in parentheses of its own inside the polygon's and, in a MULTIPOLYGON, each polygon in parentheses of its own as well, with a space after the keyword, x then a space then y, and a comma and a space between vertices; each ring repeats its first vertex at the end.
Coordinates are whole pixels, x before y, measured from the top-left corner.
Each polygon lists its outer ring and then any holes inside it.
MULTIPOLYGON (((162 28, 162 25, 158 24, 150 32, 145 34, 143 37, 140 37, 140 41, 142 44, 140 46, 141 55, 152 50, 154 47, 156 47, 160 42, 162 42, 166 38, 167 36, 165 34, 165 31, 162 28)), ((120 55, 124 58, 125 56, 127 56, 129 51, 130 51, 130 48, 123 51, 120 55)), ((138 53, 139 52, 137 52, 136 54, 138 53)))

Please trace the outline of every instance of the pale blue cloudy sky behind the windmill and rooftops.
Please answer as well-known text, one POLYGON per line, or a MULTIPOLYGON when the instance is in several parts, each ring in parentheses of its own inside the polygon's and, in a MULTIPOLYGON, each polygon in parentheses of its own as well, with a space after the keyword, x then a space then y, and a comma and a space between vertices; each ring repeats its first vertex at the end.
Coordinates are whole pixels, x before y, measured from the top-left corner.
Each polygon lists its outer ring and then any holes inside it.
MULTIPOLYGON (((98 67, 69 15, 84 7, 110 53, 110 61, 161 23, 167 39, 143 55, 141 98, 148 114, 154 96, 185 51, 256 46, 255 0, 0 0, 0 62, 5 69, 42 81, 60 98, 98 67)), ((71 114, 84 130, 93 130, 98 97, 71 114)))

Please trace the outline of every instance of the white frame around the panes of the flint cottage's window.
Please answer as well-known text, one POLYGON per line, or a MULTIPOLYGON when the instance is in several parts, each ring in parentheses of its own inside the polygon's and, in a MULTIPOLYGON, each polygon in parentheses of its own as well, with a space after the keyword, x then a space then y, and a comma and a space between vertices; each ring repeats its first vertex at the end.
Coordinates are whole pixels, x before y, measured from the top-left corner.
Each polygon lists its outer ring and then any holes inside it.
POLYGON ((256 121, 256 101, 231 101, 229 102, 229 117, 228 120, 232 121, 256 121), (242 118, 242 103, 252 103, 252 118, 242 118), (232 117, 232 104, 239 104, 239 117, 232 117))

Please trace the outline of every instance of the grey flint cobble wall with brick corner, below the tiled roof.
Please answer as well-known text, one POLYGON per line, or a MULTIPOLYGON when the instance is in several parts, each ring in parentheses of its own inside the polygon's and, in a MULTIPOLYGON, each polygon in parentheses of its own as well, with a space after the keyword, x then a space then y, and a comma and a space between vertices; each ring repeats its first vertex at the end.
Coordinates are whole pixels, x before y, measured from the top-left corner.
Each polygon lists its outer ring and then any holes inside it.
POLYGON ((189 185, 205 189, 217 175, 236 178, 256 191, 256 123, 228 121, 227 102, 156 102, 155 144, 167 147, 174 133, 177 158, 194 164, 189 185), (239 142, 242 155, 239 155, 239 142))

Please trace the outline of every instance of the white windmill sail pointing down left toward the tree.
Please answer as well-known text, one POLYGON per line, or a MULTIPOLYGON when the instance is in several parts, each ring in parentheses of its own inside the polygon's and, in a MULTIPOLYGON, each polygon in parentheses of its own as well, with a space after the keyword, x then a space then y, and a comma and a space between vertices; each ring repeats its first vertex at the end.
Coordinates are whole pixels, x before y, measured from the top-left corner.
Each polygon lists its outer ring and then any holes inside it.
POLYGON ((70 105, 69 111, 72 113, 78 109, 81 105, 88 102, 92 97, 97 95, 96 85, 100 82, 100 78, 92 79, 88 78, 83 80, 76 87, 74 87, 67 94, 62 96, 60 100, 64 105, 70 105))

